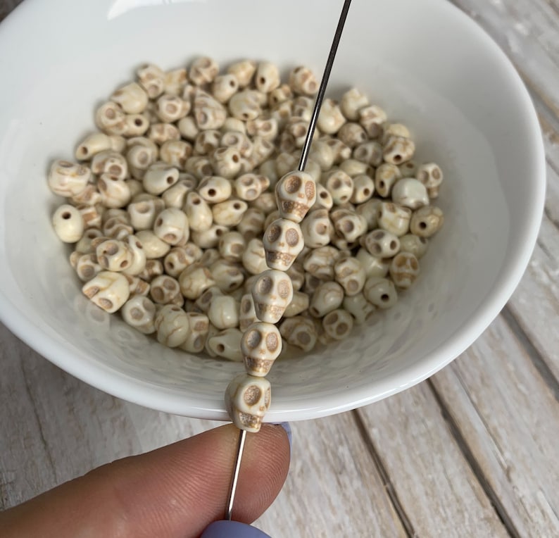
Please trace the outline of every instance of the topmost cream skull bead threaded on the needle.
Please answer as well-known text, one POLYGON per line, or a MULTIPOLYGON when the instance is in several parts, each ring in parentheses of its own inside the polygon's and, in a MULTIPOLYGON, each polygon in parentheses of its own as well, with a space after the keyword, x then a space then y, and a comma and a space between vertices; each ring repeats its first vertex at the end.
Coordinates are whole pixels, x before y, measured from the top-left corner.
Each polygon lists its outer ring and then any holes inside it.
POLYGON ((316 201, 313 176, 301 171, 290 172, 277 182, 275 194, 279 214, 300 223, 316 201))

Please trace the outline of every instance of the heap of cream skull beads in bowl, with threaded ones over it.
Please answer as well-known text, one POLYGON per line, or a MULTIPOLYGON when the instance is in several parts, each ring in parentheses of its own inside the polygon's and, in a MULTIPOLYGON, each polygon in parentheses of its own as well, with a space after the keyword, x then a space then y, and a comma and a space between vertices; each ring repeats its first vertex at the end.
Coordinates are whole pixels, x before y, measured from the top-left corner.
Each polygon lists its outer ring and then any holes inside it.
POLYGON ((84 294, 262 378, 287 346, 343 339, 393 306, 443 223, 441 169, 415 162, 408 128, 353 88, 323 102, 306 171, 291 173, 317 90, 308 68, 282 83, 266 61, 140 67, 76 162, 49 172, 84 294))

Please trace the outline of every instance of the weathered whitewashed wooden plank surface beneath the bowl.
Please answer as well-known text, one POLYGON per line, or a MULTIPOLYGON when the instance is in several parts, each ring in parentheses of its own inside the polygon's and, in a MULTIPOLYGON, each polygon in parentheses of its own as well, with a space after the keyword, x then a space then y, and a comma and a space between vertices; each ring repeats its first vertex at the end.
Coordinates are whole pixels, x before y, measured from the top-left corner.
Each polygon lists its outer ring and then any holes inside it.
MULTIPOLYGON (((0 0, 0 20, 18 0, 0 0)), ((455 0, 520 71, 545 135, 548 194, 525 277, 430 380, 294 423, 293 463, 257 525, 282 537, 559 537, 559 0, 455 0)), ((0 326, 0 506, 213 426, 115 399, 0 326)))

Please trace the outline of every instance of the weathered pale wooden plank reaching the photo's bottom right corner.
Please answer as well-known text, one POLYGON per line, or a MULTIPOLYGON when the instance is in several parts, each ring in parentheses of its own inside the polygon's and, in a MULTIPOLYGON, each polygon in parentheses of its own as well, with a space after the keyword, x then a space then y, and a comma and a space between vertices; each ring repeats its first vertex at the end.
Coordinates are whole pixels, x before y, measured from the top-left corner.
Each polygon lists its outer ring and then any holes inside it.
POLYGON ((559 403, 503 319, 432 386, 514 536, 559 536, 559 403))

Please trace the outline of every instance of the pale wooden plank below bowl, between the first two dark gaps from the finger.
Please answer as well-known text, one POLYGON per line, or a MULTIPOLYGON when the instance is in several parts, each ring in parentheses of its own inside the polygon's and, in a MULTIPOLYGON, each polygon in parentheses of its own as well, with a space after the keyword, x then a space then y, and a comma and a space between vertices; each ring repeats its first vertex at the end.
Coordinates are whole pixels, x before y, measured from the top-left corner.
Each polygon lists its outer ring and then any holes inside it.
POLYGON ((425 383, 359 410, 413 536, 508 535, 425 383))

